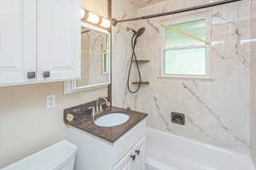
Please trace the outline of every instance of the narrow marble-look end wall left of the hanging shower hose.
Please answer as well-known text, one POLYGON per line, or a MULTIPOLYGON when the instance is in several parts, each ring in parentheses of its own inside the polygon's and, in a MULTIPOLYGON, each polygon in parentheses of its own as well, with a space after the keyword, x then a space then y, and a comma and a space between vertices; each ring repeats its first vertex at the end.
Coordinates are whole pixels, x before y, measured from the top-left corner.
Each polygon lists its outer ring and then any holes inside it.
MULTIPOLYGON (((117 20, 137 16, 137 8, 130 0, 113 0, 113 18, 117 20)), ((135 106, 136 95, 128 93, 126 80, 129 64, 131 61, 131 31, 127 27, 137 29, 136 22, 122 23, 113 27, 113 105, 119 107, 135 106)), ((131 77, 132 81, 132 77, 131 77)))

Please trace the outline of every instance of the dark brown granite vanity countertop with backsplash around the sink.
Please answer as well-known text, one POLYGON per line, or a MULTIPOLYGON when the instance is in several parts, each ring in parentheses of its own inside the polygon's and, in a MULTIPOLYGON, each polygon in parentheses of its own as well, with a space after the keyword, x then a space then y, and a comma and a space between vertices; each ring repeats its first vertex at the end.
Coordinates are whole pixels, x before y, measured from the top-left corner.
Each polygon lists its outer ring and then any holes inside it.
POLYGON ((90 110, 88 110, 87 108, 88 107, 85 108, 85 106, 79 105, 64 110, 64 122, 66 122, 70 126, 77 127, 99 138, 108 140, 108 142, 111 143, 114 143, 117 139, 127 133, 132 127, 135 127, 138 122, 143 121, 143 119, 148 116, 148 114, 138 111, 125 110, 119 107, 109 107, 105 111, 99 113, 96 118, 119 112, 130 116, 130 119, 127 122, 115 127, 99 127, 93 122, 92 116, 90 116, 90 110), (67 121, 67 114, 72 114, 74 116, 72 122, 67 121))

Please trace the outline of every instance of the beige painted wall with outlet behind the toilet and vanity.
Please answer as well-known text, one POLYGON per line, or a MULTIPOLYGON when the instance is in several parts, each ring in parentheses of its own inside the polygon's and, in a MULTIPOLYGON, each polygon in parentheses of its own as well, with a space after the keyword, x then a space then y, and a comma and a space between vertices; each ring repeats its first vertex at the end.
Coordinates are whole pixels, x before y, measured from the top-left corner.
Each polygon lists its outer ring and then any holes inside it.
MULTIPOLYGON (((108 15, 108 0, 82 3, 96 14, 108 15)), ((65 139, 63 109, 100 96, 107 96, 106 88, 63 95, 63 82, 0 88, 0 168, 65 139), (47 94, 55 94, 55 109, 46 110, 47 94)))

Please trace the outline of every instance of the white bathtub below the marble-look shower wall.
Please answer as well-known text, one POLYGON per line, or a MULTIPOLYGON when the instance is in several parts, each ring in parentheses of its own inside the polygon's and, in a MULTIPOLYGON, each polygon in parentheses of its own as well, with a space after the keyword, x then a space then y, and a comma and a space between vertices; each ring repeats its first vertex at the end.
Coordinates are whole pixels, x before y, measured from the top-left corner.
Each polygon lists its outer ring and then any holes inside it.
POLYGON ((249 156, 147 129, 146 170, 254 170, 249 156))

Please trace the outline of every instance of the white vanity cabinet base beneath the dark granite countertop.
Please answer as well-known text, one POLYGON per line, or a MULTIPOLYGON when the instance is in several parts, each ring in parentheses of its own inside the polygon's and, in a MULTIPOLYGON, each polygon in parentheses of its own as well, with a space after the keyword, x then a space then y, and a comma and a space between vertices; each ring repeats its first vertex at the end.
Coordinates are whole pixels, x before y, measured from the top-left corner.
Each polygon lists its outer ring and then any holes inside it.
POLYGON ((78 146, 75 169, 144 170, 145 134, 145 120, 114 143, 70 126, 68 140, 78 146))

